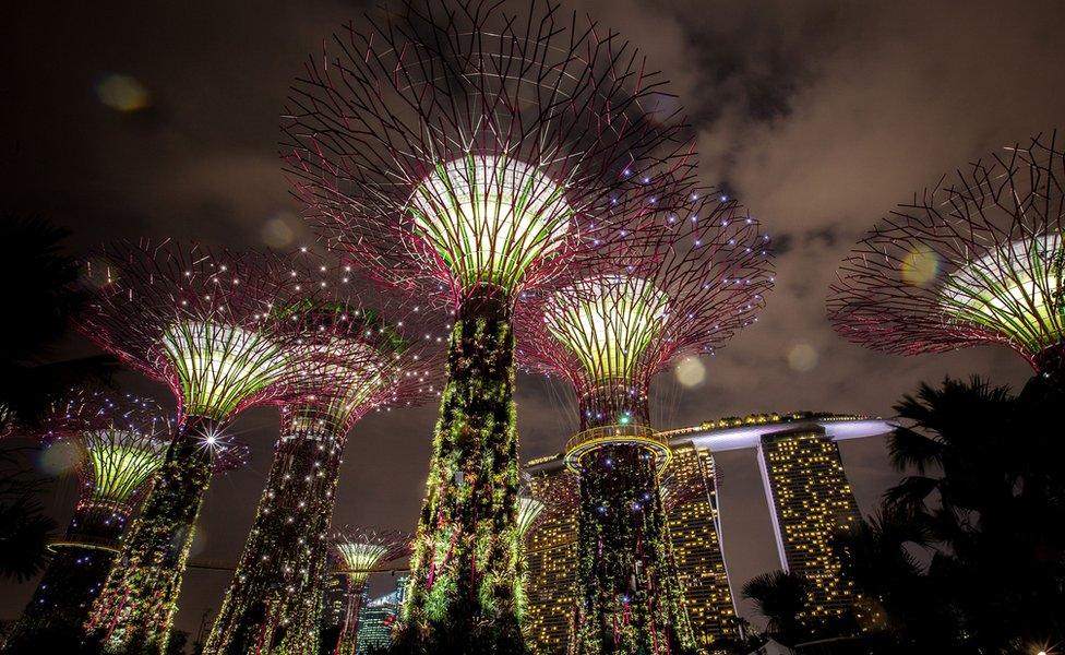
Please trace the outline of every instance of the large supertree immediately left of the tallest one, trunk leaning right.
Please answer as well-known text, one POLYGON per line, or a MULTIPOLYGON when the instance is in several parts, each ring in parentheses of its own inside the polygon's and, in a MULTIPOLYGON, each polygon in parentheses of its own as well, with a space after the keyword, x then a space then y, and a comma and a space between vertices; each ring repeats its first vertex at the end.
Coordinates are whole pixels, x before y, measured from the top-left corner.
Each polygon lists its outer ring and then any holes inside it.
POLYGON ((348 432, 370 412, 440 392, 436 334, 418 306, 380 306, 345 267, 298 266, 331 297, 280 308, 303 334, 280 402, 282 437, 255 522, 206 653, 304 653, 316 647, 328 527, 348 432), (310 272, 310 273, 308 273, 310 272))

